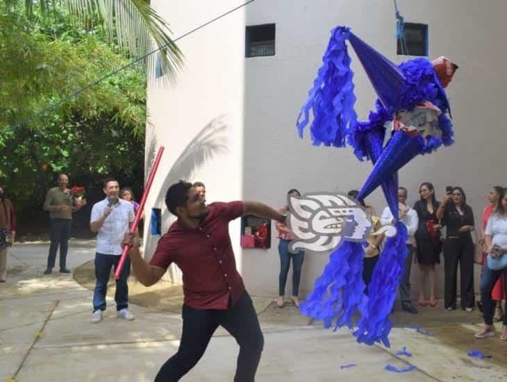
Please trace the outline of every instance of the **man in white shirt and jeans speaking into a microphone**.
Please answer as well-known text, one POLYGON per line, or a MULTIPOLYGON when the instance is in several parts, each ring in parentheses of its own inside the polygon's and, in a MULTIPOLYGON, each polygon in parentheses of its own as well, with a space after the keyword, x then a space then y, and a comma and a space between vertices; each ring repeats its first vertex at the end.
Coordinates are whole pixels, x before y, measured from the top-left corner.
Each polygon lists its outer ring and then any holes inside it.
MULTIPOLYGON (((97 283, 93 292, 92 322, 102 321, 106 310, 106 293, 111 268, 115 269, 122 254, 122 241, 131 222, 134 221, 134 209, 130 202, 119 199, 118 182, 109 178, 104 181, 103 192, 106 199, 97 202, 92 208, 90 229, 97 233, 97 253, 95 254, 95 277, 97 283)), ((116 281, 116 309, 120 318, 132 320, 134 316, 128 311, 127 278, 131 263, 127 258, 122 274, 116 281)))

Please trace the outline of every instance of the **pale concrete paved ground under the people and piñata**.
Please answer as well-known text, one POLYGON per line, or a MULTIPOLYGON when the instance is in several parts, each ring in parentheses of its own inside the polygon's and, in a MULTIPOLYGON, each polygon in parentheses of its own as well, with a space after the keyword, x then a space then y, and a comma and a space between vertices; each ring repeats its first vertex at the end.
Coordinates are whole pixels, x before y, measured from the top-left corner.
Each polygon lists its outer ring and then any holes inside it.
MULTIPOLYGON (((92 244, 72 242, 69 267, 90 261, 92 244)), ((71 275, 42 274, 46 256, 47 243, 10 250, 8 283, 0 284, 0 381, 153 381, 178 347, 180 315, 133 305, 133 322, 117 319, 109 308, 103 322, 91 324, 92 292, 71 275)), ((417 316, 396 311, 391 349, 357 344, 345 329, 333 333, 318 323, 308 326, 290 305, 259 309, 265 350, 256 380, 506 380, 507 342, 498 336, 474 340, 478 313, 449 313, 441 305, 417 316), (416 325, 423 333, 413 329, 416 325), (396 355, 402 347, 410 358, 396 355), (472 349, 492 358, 470 358, 472 349), (355 366, 342 368, 350 364, 355 366), (388 372, 388 364, 415 369, 388 372)), ((217 331, 183 381, 232 381, 237 353, 233 338, 217 331)))

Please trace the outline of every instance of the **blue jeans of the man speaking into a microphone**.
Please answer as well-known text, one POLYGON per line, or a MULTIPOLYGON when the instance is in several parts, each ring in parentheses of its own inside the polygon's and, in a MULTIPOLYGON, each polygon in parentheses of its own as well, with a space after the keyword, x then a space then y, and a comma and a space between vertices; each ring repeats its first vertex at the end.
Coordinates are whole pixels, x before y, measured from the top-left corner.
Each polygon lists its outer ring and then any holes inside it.
MULTIPOLYGON (((93 311, 106 310, 106 293, 108 292, 108 281, 111 268, 115 269, 119 263, 119 255, 95 254, 95 290, 93 292, 93 311)), ((116 281, 116 310, 128 308, 128 285, 127 278, 131 272, 131 259, 126 258, 122 274, 116 281)))

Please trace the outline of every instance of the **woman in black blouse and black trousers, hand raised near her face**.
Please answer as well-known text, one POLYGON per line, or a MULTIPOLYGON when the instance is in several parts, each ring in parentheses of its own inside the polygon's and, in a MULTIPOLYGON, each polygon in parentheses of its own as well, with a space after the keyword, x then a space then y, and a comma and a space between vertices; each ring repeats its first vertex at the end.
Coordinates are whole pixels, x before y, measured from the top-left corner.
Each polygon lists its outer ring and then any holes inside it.
POLYGON ((461 308, 472 312, 475 305, 474 295, 474 213, 467 204, 463 188, 454 187, 445 194, 437 210, 437 217, 447 227, 444 244, 444 294, 445 308, 456 309, 456 279, 458 262, 460 263, 461 308))

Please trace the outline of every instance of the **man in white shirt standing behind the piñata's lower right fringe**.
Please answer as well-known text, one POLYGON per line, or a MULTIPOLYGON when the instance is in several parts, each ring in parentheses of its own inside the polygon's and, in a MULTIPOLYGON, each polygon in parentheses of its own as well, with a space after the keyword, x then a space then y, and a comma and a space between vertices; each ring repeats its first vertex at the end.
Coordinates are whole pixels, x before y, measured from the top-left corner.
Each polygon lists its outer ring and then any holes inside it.
MULTIPOLYGON (((405 224, 408 231, 407 248, 408 254, 405 259, 405 267, 401 276, 401 283, 399 285, 399 297, 401 299, 401 308, 408 313, 417 314, 417 309, 410 302, 410 267, 412 265, 412 258, 414 254, 415 240, 414 233, 417 231, 419 218, 415 210, 407 206, 408 192, 404 187, 398 188, 398 202, 399 202, 399 219, 405 224)), ((383 226, 392 225, 396 223, 392 216, 389 207, 385 207, 381 217, 381 224, 383 226)))

